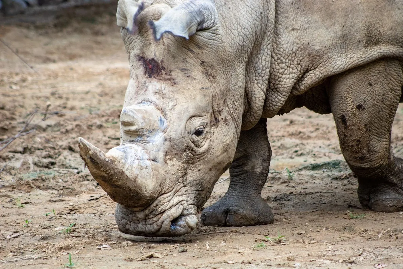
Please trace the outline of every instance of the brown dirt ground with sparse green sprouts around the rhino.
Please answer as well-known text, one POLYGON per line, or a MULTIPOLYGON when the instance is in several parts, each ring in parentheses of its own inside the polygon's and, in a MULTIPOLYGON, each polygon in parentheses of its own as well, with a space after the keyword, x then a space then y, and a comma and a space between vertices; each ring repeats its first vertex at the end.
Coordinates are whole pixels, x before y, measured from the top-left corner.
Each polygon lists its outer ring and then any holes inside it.
MULTIPOLYGON (((119 144, 129 65, 113 9, 75 12, 72 21, 69 13, 0 25, 0 139, 42 113, 27 128, 38 123, 36 131, 0 152, 0 268, 63 268, 69 254, 73 268, 403 268, 403 212, 361 209, 332 115, 305 108, 269 120, 273 158, 262 196, 273 224, 199 225, 178 238, 120 233, 77 138, 102 150, 119 144)), ((402 105, 392 143, 403 157, 402 105)), ((228 184, 225 173, 206 206, 228 184)))

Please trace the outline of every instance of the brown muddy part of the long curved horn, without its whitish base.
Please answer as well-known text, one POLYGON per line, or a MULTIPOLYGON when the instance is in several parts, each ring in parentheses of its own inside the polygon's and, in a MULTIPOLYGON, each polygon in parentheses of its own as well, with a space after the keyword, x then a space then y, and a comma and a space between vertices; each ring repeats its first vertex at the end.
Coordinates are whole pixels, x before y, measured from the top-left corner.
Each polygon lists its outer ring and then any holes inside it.
POLYGON ((132 210, 141 210, 155 200, 155 197, 142 192, 137 177, 128 177, 119 160, 108 158, 102 150, 81 137, 78 144, 89 172, 114 202, 132 210))

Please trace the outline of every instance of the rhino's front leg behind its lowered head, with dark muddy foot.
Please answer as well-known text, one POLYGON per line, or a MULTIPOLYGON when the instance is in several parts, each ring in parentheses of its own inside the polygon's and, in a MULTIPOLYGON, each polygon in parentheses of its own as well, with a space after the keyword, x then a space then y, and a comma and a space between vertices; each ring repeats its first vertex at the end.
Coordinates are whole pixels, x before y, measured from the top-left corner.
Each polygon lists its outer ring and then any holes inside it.
POLYGON ((260 196, 272 155, 266 121, 260 119, 252 129, 241 131, 229 169, 229 188, 224 197, 204 209, 203 225, 249 226, 274 221, 270 206, 260 196))

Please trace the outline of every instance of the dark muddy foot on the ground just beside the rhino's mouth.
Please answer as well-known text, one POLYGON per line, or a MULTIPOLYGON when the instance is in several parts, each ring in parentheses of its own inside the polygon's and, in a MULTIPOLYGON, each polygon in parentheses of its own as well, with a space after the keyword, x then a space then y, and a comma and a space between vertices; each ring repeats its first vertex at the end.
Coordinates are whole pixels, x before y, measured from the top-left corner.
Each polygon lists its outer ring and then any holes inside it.
POLYGON ((203 225, 251 226, 273 223, 270 206, 262 197, 221 198, 202 212, 203 225))

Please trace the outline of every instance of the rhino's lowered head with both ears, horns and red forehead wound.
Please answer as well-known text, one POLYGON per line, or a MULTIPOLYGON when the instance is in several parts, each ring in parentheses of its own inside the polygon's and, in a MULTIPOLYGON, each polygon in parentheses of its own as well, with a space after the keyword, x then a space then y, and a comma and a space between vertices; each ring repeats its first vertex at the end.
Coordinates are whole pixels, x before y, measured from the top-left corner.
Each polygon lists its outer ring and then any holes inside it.
POLYGON ((153 2, 118 2, 130 63, 120 146, 104 153, 79 138, 79 148, 117 203, 120 231, 179 236, 195 229, 233 160, 247 113, 246 58, 224 38, 231 31, 213 1, 153 2))

